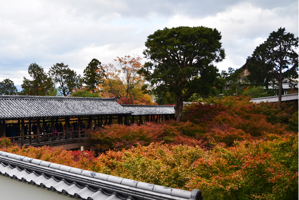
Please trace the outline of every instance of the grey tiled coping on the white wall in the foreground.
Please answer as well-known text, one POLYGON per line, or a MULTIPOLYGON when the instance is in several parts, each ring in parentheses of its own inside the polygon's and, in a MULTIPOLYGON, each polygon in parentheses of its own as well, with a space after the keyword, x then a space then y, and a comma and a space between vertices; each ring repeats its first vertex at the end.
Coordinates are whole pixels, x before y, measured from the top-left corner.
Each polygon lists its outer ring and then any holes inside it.
POLYGON ((3 151, 0 151, 0 175, 82 200, 202 199, 199 190, 189 192, 152 185, 3 151))

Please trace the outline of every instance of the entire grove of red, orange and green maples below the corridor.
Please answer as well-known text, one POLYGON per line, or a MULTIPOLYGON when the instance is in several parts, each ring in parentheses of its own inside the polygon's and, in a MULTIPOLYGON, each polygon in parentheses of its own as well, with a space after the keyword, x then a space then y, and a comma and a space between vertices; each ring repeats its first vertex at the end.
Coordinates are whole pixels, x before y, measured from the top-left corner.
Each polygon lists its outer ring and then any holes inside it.
POLYGON ((192 190, 205 199, 298 199, 298 104, 253 104, 245 97, 186 106, 182 122, 110 125, 91 150, 3 151, 80 169, 192 190), (96 155, 93 150, 100 150, 96 155))

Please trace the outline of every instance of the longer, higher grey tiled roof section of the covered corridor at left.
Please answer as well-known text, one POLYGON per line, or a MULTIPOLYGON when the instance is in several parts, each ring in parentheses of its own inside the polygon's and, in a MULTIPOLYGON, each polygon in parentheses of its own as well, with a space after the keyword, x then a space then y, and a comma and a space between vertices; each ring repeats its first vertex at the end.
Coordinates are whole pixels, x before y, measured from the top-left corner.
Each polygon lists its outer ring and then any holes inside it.
POLYGON ((127 115, 114 98, 0 95, 0 119, 127 115))

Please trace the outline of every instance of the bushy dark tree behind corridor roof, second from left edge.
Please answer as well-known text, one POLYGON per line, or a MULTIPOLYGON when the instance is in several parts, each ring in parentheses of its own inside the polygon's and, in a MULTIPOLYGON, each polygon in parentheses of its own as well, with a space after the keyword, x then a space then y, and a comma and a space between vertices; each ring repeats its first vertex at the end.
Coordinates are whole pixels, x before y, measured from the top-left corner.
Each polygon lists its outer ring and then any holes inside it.
POLYGON ((31 63, 28 67, 28 74, 32 80, 24 76, 22 84, 23 95, 48 96, 52 93, 54 83, 41 66, 36 63, 31 63))

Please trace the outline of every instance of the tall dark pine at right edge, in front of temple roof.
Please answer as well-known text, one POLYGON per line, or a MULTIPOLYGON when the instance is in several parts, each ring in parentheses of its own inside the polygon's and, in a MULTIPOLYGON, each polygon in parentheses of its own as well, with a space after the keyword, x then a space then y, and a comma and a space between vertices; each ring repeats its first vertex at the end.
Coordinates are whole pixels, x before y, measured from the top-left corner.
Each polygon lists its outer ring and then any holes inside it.
POLYGON ((278 83, 278 108, 281 107, 282 81, 298 78, 298 37, 279 28, 270 33, 268 39, 259 45, 250 58, 249 81, 264 84, 278 83))

